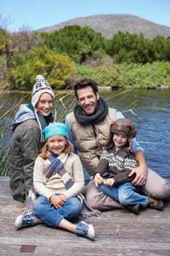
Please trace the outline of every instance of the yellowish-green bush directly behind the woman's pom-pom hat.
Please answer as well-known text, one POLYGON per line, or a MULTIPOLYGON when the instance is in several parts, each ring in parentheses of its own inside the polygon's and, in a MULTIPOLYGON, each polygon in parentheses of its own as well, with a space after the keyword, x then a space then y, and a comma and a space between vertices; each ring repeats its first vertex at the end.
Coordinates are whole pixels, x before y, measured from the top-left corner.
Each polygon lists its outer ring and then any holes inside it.
POLYGON ((53 89, 61 89, 71 79, 72 72, 74 64, 68 56, 42 47, 35 48, 28 56, 23 53, 12 56, 9 80, 15 83, 15 89, 31 90, 36 75, 42 74, 49 78, 53 89))

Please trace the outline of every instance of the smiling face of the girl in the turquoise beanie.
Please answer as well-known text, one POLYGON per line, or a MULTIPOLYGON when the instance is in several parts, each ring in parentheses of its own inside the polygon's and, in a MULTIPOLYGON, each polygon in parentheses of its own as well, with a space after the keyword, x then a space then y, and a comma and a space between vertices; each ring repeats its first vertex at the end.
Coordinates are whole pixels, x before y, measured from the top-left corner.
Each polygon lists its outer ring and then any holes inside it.
POLYGON ((48 150, 60 154, 66 147, 67 139, 63 135, 55 135, 47 139, 48 150))

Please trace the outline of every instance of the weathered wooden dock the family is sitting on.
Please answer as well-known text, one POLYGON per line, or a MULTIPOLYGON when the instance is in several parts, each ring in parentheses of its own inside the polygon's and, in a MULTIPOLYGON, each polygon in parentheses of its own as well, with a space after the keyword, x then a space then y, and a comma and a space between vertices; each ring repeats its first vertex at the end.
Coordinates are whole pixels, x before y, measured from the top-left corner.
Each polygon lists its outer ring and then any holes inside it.
MULTIPOLYGON (((15 229, 22 203, 12 199, 9 177, 0 177, 0 255, 64 256, 169 256, 170 203, 163 211, 147 208, 136 216, 124 209, 104 211, 86 219, 96 230, 96 240, 76 236, 46 225, 15 229), (28 245, 33 252, 20 252, 28 245)), ((80 218, 81 219, 81 218, 80 218)))

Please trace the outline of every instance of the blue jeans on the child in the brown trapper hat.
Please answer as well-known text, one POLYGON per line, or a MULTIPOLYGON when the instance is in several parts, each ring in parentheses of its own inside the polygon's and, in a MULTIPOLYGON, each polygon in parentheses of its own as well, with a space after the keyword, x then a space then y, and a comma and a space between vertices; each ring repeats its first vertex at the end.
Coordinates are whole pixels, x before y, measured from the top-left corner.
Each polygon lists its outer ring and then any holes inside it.
POLYGON ((140 203, 143 208, 147 206, 147 197, 136 192, 136 188, 131 183, 118 184, 116 186, 99 185, 98 189, 104 194, 117 200, 121 205, 133 205, 140 203))

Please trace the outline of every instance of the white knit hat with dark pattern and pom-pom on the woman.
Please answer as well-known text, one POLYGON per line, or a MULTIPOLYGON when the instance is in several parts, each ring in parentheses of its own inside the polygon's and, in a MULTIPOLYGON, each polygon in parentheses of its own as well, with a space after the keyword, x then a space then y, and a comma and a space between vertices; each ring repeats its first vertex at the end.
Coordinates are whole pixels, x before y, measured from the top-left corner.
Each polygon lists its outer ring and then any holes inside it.
POLYGON ((39 101, 39 97, 45 93, 50 94, 53 97, 53 99, 55 98, 53 89, 51 88, 47 80, 45 80, 45 78, 42 75, 36 75, 36 83, 34 84, 31 94, 31 103, 34 106, 34 108, 36 106, 36 103, 39 101))

